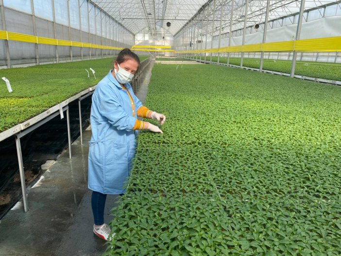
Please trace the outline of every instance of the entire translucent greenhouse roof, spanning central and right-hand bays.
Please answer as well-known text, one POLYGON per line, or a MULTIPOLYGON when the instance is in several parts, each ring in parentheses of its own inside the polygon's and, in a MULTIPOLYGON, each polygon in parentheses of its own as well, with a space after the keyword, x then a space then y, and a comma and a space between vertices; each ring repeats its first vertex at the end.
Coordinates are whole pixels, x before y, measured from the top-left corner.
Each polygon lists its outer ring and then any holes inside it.
MULTIPOLYGON (((232 27, 236 30, 244 26, 246 0, 233 1, 232 27)), ((92 2, 134 34, 145 28, 153 34, 158 26, 173 35, 188 26, 199 25, 202 20, 208 20, 210 34, 219 33, 220 28, 223 28, 224 32, 228 31, 232 5, 232 0, 92 0, 92 2), (222 20, 222 26, 220 26, 220 20, 222 20), (170 27, 167 26, 168 22, 170 22, 170 27)), ((301 3, 300 0, 271 0, 270 2, 269 20, 298 13, 301 3)), ((339 1, 306 0, 305 10, 331 2, 339 1)), ((249 0, 247 26, 264 22, 266 4, 266 0, 249 0)))

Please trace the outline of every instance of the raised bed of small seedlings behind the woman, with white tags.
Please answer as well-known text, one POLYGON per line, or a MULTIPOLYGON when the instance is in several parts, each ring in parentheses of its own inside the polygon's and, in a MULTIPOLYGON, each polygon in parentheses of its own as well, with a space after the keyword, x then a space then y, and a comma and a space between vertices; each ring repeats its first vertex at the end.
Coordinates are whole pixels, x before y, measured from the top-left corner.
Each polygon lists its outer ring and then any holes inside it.
MULTIPOLYGON (((141 61, 148 56, 141 56, 141 61)), ((113 58, 1 69, 12 86, 0 86, 0 132, 30 119, 69 97, 96 85, 112 68, 113 58), (90 72, 87 77, 85 68, 90 72), (95 70, 94 78, 91 70, 95 70)))

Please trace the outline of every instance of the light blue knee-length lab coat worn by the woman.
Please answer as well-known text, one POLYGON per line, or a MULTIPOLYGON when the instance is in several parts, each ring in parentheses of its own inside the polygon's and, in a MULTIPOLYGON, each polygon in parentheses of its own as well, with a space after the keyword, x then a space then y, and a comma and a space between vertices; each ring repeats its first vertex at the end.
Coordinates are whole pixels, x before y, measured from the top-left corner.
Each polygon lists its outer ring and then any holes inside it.
POLYGON ((103 194, 125 192, 136 148, 133 130, 137 109, 142 103, 132 86, 125 84, 134 100, 123 90, 111 71, 97 85, 92 96, 91 130, 88 158, 88 188, 103 194))

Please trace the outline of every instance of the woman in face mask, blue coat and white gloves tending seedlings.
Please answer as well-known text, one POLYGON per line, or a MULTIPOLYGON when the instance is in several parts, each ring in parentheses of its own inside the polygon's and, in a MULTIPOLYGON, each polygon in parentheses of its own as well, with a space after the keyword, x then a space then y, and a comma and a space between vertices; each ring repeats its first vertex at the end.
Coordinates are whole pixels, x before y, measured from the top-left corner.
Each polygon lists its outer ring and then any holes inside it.
POLYGON ((88 188, 92 190, 93 232, 104 240, 110 240, 110 228, 103 218, 106 195, 125 192, 135 154, 136 130, 162 133, 157 126, 137 117, 152 118, 160 124, 166 120, 163 114, 143 106, 129 84, 139 64, 134 52, 120 51, 114 70, 98 83, 92 96, 88 188))

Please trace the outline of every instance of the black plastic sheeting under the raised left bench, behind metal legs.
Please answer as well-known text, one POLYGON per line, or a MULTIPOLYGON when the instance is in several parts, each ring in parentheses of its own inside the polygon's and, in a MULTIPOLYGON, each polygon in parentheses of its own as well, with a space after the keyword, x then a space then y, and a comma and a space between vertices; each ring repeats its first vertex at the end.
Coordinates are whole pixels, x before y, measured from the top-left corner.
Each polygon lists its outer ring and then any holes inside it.
MULTIPOLYGON (((91 96, 81 101, 82 126, 90 124, 91 96)), ((80 135, 78 100, 69 103, 71 140, 80 135)), ((68 148, 66 112, 51 119, 31 133, 22 137, 21 151, 24 163, 26 187, 36 181, 43 171, 46 160, 56 160, 68 148)), ((87 143, 84 141, 83 143, 87 143)), ((15 137, 0 142, 0 219, 22 197, 15 137)))

